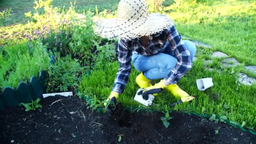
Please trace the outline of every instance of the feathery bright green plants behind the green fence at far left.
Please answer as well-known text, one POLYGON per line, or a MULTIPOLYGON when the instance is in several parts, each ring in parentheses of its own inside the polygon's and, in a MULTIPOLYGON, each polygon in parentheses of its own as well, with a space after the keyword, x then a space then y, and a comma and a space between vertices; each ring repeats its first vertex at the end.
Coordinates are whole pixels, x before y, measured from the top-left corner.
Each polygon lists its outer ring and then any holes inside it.
POLYGON ((40 41, 5 47, 0 56, 0 88, 16 88, 19 82, 28 82, 32 76, 38 76, 41 70, 48 69, 49 56, 40 41))

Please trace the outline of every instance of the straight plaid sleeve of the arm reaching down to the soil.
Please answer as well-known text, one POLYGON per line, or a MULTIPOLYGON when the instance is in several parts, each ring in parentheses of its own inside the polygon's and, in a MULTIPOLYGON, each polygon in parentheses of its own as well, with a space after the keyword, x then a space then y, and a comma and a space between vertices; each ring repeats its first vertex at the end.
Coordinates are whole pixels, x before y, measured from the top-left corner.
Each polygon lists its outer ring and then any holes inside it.
POLYGON ((112 91, 117 93, 123 93, 125 85, 128 81, 129 75, 131 74, 131 56, 132 51, 127 48, 125 40, 120 39, 118 41, 118 61, 119 69, 115 77, 114 86, 112 91))

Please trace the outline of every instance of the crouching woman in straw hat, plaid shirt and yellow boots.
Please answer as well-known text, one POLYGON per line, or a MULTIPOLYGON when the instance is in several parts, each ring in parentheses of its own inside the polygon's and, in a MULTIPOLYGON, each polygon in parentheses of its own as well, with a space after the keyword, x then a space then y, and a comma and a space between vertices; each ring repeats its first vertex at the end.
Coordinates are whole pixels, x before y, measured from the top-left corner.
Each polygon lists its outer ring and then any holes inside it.
POLYGON ((119 69, 109 100, 116 103, 119 94, 123 93, 131 73, 131 61, 141 72, 136 83, 144 88, 144 99, 148 99, 148 94, 160 93, 163 88, 173 96, 189 96, 176 83, 191 69, 196 47, 188 40, 181 40, 168 16, 149 14, 144 0, 120 0, 116 19, 94 22, 97 35, 119 38, 119 69), (162 80, 155 85, 150 84, 155 79, 162 80))

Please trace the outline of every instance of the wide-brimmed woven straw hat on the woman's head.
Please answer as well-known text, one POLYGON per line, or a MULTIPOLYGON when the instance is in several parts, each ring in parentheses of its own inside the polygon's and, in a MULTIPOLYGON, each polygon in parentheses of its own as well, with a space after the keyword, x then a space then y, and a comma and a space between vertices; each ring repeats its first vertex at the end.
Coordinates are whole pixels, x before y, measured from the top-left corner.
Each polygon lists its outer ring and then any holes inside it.
POLYGON ((94 32, 108 39, 131 40, 149 36, 173 25, 168 16, 149 13, 145 0, 120 0, 115 19, 93 19, 94 32))

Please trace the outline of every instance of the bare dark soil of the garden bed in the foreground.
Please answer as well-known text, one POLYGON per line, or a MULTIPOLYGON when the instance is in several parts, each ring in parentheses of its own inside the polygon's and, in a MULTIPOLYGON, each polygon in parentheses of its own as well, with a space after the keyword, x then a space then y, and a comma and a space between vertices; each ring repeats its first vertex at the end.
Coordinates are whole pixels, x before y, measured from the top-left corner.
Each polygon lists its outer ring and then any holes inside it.
POLYGON ((196 115, 171 112, 168 128, 162 112, 86 109, 77 97, 48 97, 43 108, 0 110, 0 144, 256 144, 256 136, 196 115), (218 132, 216 133, 216 130, 218 132))

